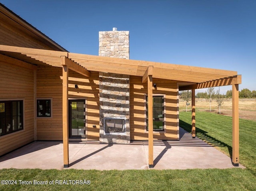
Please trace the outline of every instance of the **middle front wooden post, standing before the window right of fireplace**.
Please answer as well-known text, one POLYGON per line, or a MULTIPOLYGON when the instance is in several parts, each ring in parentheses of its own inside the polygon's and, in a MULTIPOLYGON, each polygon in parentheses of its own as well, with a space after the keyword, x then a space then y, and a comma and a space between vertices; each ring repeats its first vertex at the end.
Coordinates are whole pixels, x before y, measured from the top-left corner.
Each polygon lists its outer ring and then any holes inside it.
POLYGON ((154 167, 153 157, 153 67, 148 67, 148 167, 154 167))

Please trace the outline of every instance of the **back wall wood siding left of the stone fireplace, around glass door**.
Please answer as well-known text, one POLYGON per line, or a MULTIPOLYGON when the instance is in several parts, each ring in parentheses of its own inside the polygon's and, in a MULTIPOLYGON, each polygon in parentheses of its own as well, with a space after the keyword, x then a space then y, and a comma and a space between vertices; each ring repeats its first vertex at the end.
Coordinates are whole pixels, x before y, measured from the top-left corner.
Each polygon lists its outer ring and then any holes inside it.
MULTIPOLYGON (((62 68, 39 66, 36 90, 37 98, 52 98, 53 106, 52 118, 37 118, 37 140, 62 140, 62 68)), ((68 90, 69 98, 86 100, 86 138, 99 140, 99 73, 88 78, 69 70, 68 90)))

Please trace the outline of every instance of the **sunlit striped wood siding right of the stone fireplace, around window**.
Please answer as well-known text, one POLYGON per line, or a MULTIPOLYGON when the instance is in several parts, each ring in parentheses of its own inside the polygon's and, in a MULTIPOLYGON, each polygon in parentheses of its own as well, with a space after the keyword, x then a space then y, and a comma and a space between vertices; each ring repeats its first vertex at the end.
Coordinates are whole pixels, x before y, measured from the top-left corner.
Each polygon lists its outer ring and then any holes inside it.
MULTIPOLYGON (((177 82, 153 78, 154 94, 166 95, 166 132, 154 132, 154 140, 177 140, 177 82)), ((130 136, 131 140, 148 140, 145 130, 145 95, 147 83, 142 77, 130 76, 130 136)))

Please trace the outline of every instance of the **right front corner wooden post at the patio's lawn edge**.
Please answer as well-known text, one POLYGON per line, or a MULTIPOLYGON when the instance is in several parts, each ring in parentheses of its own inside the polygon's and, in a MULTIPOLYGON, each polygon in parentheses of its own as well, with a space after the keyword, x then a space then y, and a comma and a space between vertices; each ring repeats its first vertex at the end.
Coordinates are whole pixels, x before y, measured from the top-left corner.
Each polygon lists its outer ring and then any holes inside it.
POLYGON ((232 85, 232 163, 239 165, 239 90, 238 84, 232 85))

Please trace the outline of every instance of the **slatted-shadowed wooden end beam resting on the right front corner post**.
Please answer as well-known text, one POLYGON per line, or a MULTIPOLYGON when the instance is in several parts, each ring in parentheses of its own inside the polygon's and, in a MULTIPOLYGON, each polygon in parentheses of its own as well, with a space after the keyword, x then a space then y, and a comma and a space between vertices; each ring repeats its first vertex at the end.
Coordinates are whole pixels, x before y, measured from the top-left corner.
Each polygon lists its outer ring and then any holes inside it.
POLYGON ((198 83, 194 85, 182 86, 179 87, 179 91, 183 90, 191 90, 191 89, 202 89, 202 88, 209 88, 209 87, 218 87, 218 86, 227 86, 227 85, 234 85, 234 84, 241 84, 242 83, 242 75, 236 75, 229 78, 218 79, 214 81, 198 83))

